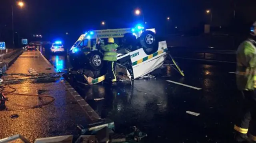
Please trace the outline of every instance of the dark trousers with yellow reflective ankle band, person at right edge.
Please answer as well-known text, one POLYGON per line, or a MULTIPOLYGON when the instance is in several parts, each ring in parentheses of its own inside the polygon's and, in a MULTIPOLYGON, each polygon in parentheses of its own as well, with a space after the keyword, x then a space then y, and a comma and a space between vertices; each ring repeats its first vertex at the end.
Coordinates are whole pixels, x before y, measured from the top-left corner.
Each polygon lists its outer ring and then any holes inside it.
POLYGON ((234 129, 239 133, 250 133, 250 138, 256 141, 256 92, 242 91, 239 120, 234 129))

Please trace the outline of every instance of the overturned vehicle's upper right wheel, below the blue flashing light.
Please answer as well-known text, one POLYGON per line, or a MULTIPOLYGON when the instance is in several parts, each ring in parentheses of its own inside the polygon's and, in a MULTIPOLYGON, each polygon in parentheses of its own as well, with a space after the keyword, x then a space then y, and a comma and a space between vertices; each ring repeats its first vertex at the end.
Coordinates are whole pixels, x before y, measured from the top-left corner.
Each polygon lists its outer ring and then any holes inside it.
POLYGON ((156 43, 156 35, 152 31, 144 31, 140 36, 140 44, 144 49, 154 47, 156 43))

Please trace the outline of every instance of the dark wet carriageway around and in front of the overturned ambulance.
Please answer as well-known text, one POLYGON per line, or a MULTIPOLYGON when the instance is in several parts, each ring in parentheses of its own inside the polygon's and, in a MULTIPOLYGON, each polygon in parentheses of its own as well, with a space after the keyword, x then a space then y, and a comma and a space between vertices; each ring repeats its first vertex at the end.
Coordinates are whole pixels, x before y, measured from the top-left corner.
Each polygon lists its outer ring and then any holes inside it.
MULTIPOLYGON (((53 65, 58 65, 54 57, 62 56, 62 69, 70 67, 65 55, 45 55, 53 65)), ((147 143, 231 142, 240 96, 232 73, 235 64, 176 61, 184 77, 168 67, 152 73, 156 78, 134 80, 132 86, 73 85, 102 118, 115 122, 117 132, 130 133, 135 125, 148 134, 147 143)))

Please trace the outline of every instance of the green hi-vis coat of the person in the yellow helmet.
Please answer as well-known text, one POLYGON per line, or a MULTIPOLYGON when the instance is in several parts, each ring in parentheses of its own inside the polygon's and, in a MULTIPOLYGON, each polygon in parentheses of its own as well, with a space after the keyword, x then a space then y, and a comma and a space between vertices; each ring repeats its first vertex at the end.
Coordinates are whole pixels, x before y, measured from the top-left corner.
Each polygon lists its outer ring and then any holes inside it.
POLYGON ((105 51, 103 60, 104 61, 116 61, 116 48, 118 47, 115 43, 109 43, 107 45, 100 45, 101 49, 105 51))

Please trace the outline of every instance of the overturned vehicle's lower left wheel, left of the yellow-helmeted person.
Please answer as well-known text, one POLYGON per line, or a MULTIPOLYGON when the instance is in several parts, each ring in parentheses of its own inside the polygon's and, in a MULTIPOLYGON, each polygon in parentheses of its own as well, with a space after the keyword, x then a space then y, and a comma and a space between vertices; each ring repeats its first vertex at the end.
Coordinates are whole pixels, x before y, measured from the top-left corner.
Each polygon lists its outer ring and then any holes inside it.
POLYGON ((90 69, 98 71, 103 67, 103 57, 99 51, 92 51, 88 56, 90 69))

